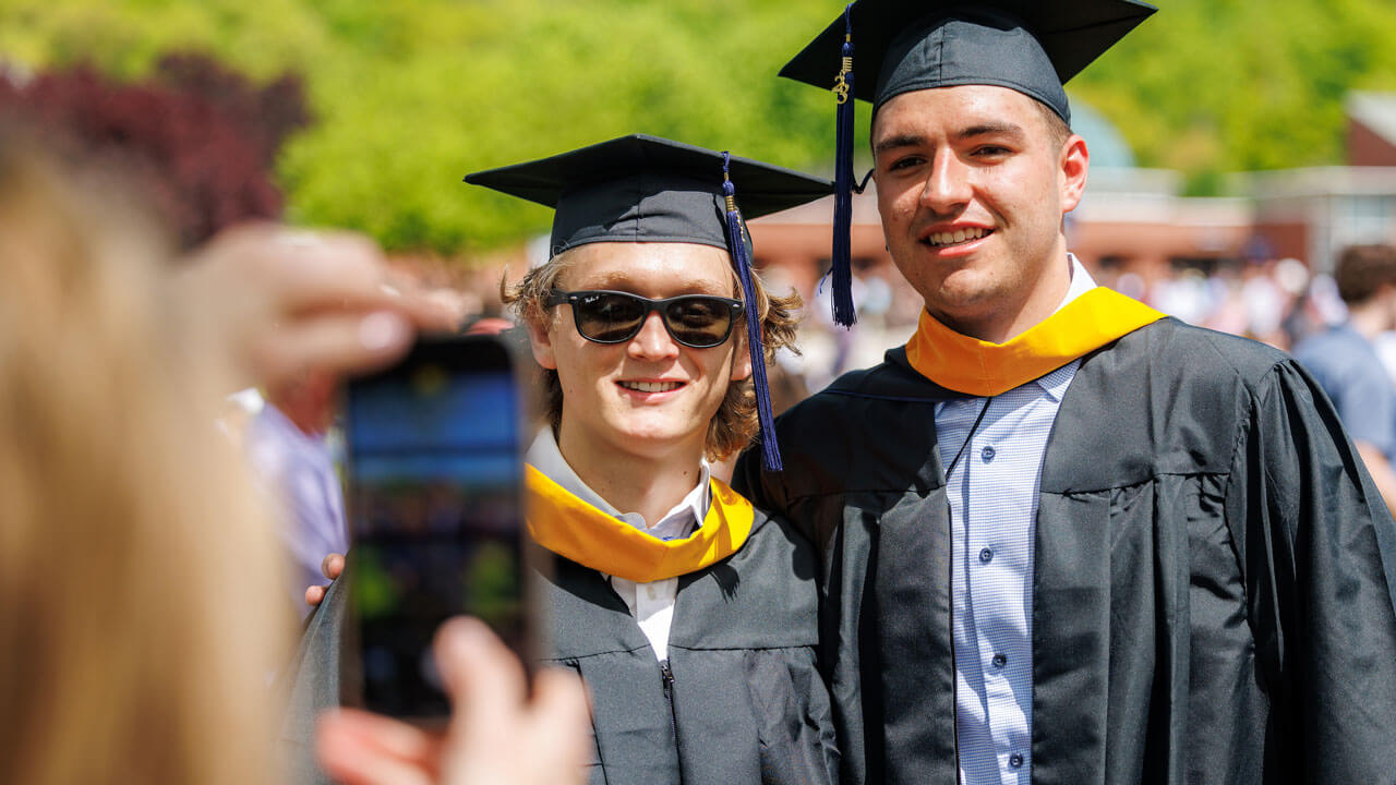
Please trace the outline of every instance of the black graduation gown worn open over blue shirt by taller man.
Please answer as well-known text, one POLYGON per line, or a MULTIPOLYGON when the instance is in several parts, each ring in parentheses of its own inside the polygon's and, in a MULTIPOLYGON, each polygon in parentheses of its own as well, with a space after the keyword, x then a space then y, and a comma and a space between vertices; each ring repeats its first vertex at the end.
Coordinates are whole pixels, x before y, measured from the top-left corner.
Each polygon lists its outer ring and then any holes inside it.
MULTIPOLYGON (((948 397, 893 349, 738 465, 822 549, 846 782, 956 781, 948 397)), ((1396 527, 1286 355, 1171 318, 1087 355, 1034 548, 1034 784, 1396 781, 1396 527)))

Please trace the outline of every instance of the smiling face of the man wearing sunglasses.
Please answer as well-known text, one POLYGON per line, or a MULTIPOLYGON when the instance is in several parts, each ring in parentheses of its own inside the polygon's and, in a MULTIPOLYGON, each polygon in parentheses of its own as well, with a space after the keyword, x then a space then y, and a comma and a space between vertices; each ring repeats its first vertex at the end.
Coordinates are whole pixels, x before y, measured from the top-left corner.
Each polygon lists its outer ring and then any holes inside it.
MULTIPOLYGON (((610 289, 651 299, 677 295, 734 296, 727 253, 692 243, 591 243, 567 253, 557 289, 610 289)), ((732 337, 711 349, 684 346, 659 313, 623 344, 582 338, 568 305, 529 324, 533 356, 557 372, 563 388, 558 444, 565 455, 618 451, 660 457, 704 454, 708 425, 732 381, 751 374, 751 359, 732 337)), ((571 458, 570 458, 571 460, 571 458)))

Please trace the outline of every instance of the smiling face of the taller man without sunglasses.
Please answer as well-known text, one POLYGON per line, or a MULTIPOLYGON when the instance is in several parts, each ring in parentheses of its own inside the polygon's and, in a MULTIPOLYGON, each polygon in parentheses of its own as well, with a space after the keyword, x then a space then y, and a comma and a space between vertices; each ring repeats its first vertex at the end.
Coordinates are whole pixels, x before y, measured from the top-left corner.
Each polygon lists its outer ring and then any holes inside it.
POLYGON ((913 91, 872 123, 878 211, 898 268, 953 330, 1002 342, 1071 285, 1062 217, 1081 201, 1085 141, 1062 141, 1008 88, 913 91))

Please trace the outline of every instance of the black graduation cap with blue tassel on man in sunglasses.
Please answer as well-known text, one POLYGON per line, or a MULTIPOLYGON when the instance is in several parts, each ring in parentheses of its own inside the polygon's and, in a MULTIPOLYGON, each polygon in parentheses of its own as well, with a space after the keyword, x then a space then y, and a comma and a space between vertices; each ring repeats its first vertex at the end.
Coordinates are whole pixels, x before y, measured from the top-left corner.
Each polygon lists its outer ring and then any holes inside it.
POLYGON ((757 218, 826 197, 833 183, 645 134, 475 172, 465 182, 554 208, 553 256, 600 242, 698 243, 729 251, 747 303, 761 448, 766 468, 779 471, 744 215, 757 218))

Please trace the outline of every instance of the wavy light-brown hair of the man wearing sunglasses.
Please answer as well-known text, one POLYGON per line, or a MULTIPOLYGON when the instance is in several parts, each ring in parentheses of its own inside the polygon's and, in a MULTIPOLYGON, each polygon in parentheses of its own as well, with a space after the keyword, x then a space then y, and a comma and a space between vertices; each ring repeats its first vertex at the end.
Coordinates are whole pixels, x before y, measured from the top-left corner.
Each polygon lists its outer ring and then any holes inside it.
MULTIPOLYGON (((500 295, 504 303, 514 309, 519 321, 525 324, 544 325, 553 317, 547 305, 547 295, 557 288, 558 277, 572 264, 571 253, 564 251, 554 256, 547 264, 536 267, 528 272, 518 284, 510 286, 500 281, 500 295)), ((799 351, 794 345, 796 327, 799 325, 800 295, 790 292, 778 296, 766 292, 759 275, 752 275, 755 284, 755 309, 761 314, 761 339, 765 344, 766 363, 775 362, 776 349, 782 346, 799 351)), ((741 296, 736 271, 732 272, 733 295, 741 296)), ((738 341, 737 351, 745 351, 745 331, 741 324, 733 328, 734 341, 738 341)), ((549 425, 556 430, 563 419, 563 384, 557 379, 557 372, 543 370, 543 413, 549 425)), ((704 453, 709 461, 722 461, 744 450, 759 430, 757 422, 757 395, 751 379, 733 380, 727 387, 727 394, 718 406, 708 425, 708 439, 704 453)))

